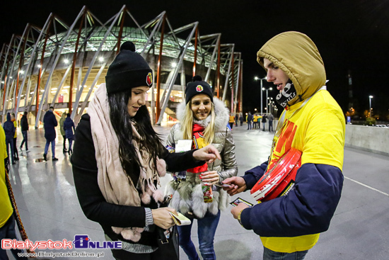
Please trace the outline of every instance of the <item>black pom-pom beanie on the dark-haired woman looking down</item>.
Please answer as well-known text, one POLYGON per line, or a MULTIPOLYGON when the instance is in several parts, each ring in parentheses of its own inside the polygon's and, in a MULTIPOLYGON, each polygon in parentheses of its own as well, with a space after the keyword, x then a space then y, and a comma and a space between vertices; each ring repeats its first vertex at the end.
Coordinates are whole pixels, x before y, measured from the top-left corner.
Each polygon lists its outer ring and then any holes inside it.
POLYGON ((132 42, 125 42, 108 67, 105 83, 108 93, 126 91, 137 86, 152 86, 153 71, 132 42))

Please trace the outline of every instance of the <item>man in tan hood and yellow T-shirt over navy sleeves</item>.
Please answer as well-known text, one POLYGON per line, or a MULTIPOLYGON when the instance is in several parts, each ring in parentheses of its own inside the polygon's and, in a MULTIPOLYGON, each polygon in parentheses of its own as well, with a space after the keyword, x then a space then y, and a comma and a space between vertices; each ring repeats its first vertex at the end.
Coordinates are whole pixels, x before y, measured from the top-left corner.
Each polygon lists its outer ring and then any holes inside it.
POLYGON ((250 190, 291 149, 301 152, 289 193, 252 208, 239 203, 231 213, 245 229, 260 235, 264 260, 304 259, 330 226, 342 193, 344 114, 326 90, 323 59, 307 35, 274 36, 257 52, 257 61, 279 90, 276 101, 285 108, 280 130, 268 162, 223 182, 233 185, 226 188, 231 195, 250 190))

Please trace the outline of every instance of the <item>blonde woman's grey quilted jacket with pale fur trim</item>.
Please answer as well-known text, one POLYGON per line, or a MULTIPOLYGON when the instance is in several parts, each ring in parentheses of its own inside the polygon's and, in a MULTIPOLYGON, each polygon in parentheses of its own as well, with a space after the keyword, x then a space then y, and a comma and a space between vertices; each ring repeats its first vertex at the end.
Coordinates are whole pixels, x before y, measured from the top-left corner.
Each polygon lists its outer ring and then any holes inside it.
MULTIPOLYGON (((223 102, 214 98, 215 109, 215 137, 212 145, 219 150, 221 160, 216 159, 215 162, 208 164, 208 171, 218 171, 220 181, 238 174, 238 166, 236 165, 235 144, 231 130, 227 128, 229 113, 228 108, 223 105, 223 102)), ((185 102, 180 103, 177 108, 177 118, 182 121, 185 113, 185 102)), ((209 117, 210 118, 210 117, 209 117)), ((196 121, 204 128, 209 123, 209 118, 196 121)), ((177 123, 170 130, 166 145, 175 147, 178 140, 182 140, 182 130, 180 123, 177 123)), ((173 194, 170 201, 170 207, 180 211, 185 215, 194 215, 194 217, 204 217, 209 211, 216 215, 218 210, 224 210, 229 203, 229 196, 223 189, 213 186, 214 202, 204 203, 202 193, 202 181, 199 179, 199 174, 186 173, 185 181, 171 181, 166 188, 166 194, 173 194)))

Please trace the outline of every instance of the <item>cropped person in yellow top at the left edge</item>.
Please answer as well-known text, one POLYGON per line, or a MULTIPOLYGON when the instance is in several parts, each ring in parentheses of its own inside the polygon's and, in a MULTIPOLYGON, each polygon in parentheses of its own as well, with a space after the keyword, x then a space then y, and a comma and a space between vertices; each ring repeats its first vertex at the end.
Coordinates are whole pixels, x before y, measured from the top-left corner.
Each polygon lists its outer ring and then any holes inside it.
MULTIPOLYGON (((11 117, 11 115, 10 115, 11 117)), ((13 124, 12 124, 13 125, 13 124)), ((6 168, 9 172, 9 162, 6 152, 6 136, 4 129, 0 125, 0 241, 2 239, 15 239, 15 217, 13 217, 13 208, 8 195, 6 185, 6 168)), ((18 256, 18 253, 23 253, 21 249, 11 249, 11 253, 15 259, 25 259, 25 256, 18 256)), ((0 259, 8 260, 6 249, 0 247, 0 259)))

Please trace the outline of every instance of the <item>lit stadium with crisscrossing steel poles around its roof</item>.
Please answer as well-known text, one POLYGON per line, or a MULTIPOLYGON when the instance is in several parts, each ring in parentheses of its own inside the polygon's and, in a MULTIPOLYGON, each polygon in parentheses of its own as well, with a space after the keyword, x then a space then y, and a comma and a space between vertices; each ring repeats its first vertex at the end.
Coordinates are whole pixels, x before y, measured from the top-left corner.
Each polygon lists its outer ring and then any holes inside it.
POLYGON ((102 23, 83 6, 71 26, 51 13, 43 28, 28 24, 23 35, 13 35, 3 45, 3 120, 8 112, 28 111, 35 115, 37 128, 42 111, 54 106, 69 109, 78 122, 93 91, 105 82, 121 43, 127 40, 153 69, 155 84, 149 105, 156 111, 155 123, 161 124, 171 105, 171 91, 184 90, 194 74, 214 87, 214 94, 231 112, 242 111, 243 60, 240 52, 234 52, 233 43, 221 43, 220 33, 199 35, 198 22, 172 28, 165 11, 140 25, 125 5, 102 23))

